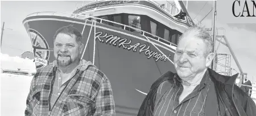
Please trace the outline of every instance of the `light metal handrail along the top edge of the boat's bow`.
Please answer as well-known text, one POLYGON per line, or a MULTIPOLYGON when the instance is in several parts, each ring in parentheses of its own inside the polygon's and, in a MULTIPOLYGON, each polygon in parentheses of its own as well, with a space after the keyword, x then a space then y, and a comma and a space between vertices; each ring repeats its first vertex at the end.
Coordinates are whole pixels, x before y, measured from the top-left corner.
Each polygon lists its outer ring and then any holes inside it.
MULTIPOLYGON (((69 14, 69 15, 72 15, 72 16, 70 16, 71 18, 76 18, 76 19, 79 19, 79 18, 77 18, 77 16, 86 16, 86 17, 88 17, 88 18, 93 18, 93 19, 98 19, 98 20, 100 20, 99 23, 102 23, 102 20, 104 20, 105 22, 110 22, 110 23, 114 23, 114 24, 118 24, 118 25, 120 25, 120 26, 123 26, 123 28, 122 28, 123 30, 125 30, 126 27, 133 28, 134 30, 141 31, 141 32, 142 32, 141 35, 148 34, 148 35, 151 35, 151 36, 157 38, 157 39, 158 39, 158 42, 160 42, 159 40, 162 39, 163 41, 170 43, 171 46, 177 47, 177 45, 174 44, 174 43, 172 43, 172 42, 169 42, 169 41, 167 41, 167 40, 165 40, 165 39, 163 39, 163 38, 160 38, 159 36, 150 34, 149 32, 140 30, 140 29, 138 29, 138 28, 134 28, 134 27, 131 27, 131 26, 127 26, 126 24, 121 24, 121 23, 113 22, 113 21, 111 21, 111 20, 101 19, 101 18, 97 18, 97 17, 94 17, 94 16, 84 15, 84 14, 61 13, 61 12, 54 12, 54 11, 42 11, 42 12, 36 12, 36 13, 29 14, 29 15, 26 16, 26 18, 29 17, 29 16, 41 15, 41 14, 43 14, 43 13, 49 13, 49 14, 51 14, 51 15, 56 15, 56 16, 64 16, 64 15, 57 15, 57 14, 69 14)), ((66 17, 67 17, 67 16, 66 16, 66 17)), ((148 38, 152 39, 151 37, 148 37, 148 38)), ((153 40, 155 40, 155 39, 153 39, 153 40)), ((163 42, 160 42, 160 43, 163 43, 163 42)), ((166 44, 166 43, 163 43, 163 44, 166 44)))

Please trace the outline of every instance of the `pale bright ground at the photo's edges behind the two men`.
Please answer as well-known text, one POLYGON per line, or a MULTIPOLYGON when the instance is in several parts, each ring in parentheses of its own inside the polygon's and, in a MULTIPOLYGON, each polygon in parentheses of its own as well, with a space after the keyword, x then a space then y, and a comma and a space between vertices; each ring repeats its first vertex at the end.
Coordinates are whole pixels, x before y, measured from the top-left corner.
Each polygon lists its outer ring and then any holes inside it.
MULTIPOLYGON (((32 76, 1 73, 0 77, 1 115, 23 116, 32 76)), ((256 98, 256 91, 251 96, 256 98)))

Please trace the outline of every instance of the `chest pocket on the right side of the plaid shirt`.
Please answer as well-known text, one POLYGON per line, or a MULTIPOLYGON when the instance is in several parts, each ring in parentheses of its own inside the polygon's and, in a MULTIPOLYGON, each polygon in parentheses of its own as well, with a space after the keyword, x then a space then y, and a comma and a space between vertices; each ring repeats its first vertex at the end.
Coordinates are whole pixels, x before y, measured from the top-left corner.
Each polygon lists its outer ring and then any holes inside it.
POLYGON ((95 102, 89 97, 80 94, 69 94, 63 106, 63 116, 90 115, 95 107, 95 102))

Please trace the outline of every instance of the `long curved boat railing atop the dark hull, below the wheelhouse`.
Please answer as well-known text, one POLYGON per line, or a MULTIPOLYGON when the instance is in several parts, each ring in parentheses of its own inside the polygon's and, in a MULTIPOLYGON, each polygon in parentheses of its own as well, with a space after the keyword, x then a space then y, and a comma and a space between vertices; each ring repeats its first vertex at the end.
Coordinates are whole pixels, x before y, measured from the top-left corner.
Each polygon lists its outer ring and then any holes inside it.
POLYGON ((110 20, 107 20, 107 19, 97 18, 97 17, 94 17, 94 16, 88 16, 88 15, 84 15, 84 14, 73 14, 73 13, 60 13, 60 12, 54 12, 54 11, 42 11, 42 12, 37 12, 37 13, 29 14, 29 15, 27 15, 27 17, 29 17, 29 16, 38 16, 38 15, 55 15, 55 16, 67 16, 67 15, 69 15, 67 17, 77 18, 77 19, 81 19, 81 18, 79 18, 79 16, 85 16, 86 18, 84 18, 84 19, 92 18, 92 19, 100 20, 100 22, 98 22, 98 23, 102 23, 102 21, 104 21, 104 22, 109 22, 109 23, 117 24, 117 25, 121 26, 123 30, 131 28, 133 30, 139 31, 141 35, 145 35, 145 36, 147 36, 148 38, 150 38, 152 40, 156 40, 157 39, 157 41, 160 42, 160 43, 166 44, 164 42, 167 42, 167 43, 170 43, 170 44, 167 44, 167 45, 174 46, 175 48, 177 47, 176 44, 171 43, 171 42, 169 42, 169 41, 167 41, 167 40, 165 40, 163 38, 160 38, 159 36, 151 34, 149 32, 143 31, 143 30, 141 30, 141 28, 138 29, 138 28, 135 28, 135 27, 127 26, 126 24, 121 24, 121 23, 113 22, 113 21, 110 21, 110 20), (152 37, 155 38, 155 39, 153 39, 152 37))

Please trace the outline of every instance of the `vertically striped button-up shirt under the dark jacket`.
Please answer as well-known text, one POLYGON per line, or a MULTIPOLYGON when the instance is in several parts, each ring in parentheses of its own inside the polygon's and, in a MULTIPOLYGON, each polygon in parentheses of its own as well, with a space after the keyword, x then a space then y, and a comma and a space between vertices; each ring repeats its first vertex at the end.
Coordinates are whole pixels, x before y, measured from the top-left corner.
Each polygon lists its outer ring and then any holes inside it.
POLYGON ((203 116, 205 100, 211 83, 209 73, 206 71, 200 84, 179 103, 183 85, 181 85, 180 77, 175 74, 174 81, 164 81, 160 84, 156 94, 154 116, 203 116))

